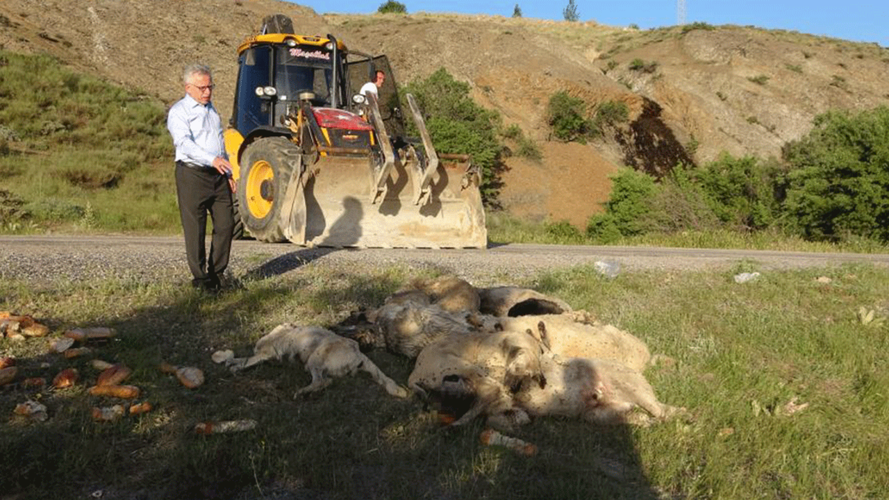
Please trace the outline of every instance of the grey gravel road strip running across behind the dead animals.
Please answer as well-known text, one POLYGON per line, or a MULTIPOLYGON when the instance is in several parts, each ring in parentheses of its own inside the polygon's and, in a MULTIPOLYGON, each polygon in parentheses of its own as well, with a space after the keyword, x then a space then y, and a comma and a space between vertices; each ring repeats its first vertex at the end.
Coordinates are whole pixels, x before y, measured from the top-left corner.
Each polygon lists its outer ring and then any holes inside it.
MULTIPOLYGON (((811 254, 619 246, 505 245, 487 249, 334 249, 236 241, 229 269, 236 278, 271 277, 312 267, 356 272, 403 266, 451 272, 479 285, 515 284, 546 270, 607 262, 634 270, 727 269, 737 262, 757 269, 870 262, 889 266, 889 254, 811 254)), ((0 278, 31 282, 132 278, 186 281, 180 237, 0 237, 0 278)))

